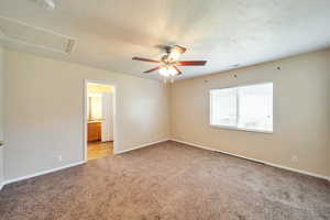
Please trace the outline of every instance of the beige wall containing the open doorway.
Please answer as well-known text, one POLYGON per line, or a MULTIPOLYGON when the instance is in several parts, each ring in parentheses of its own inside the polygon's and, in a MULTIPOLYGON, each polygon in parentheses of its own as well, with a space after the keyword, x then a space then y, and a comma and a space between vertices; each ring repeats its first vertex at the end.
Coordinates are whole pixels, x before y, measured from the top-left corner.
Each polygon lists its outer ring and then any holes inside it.
POLYGON ((120 151, 168 138, 162 82, 13 51, 4 64, 7 180, 82 161, 84 79, 117 84, 120 151))

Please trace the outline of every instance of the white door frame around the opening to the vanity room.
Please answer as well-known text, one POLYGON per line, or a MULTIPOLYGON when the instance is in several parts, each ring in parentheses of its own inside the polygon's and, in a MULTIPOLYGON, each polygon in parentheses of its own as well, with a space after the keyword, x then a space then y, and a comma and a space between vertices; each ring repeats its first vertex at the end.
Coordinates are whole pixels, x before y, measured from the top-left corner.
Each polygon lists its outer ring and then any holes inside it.
POLYGON ((113 153, 118 152, 118 135, 117 135, 117 84, 107 80, 95 80, 95 79, 84 79, 84 112, 82 112, 82 123, 84 123, 84 148, 82 148, 82 161, 88 161, 88 143, 87 143, 87 124, 88 124, 88 89, 87 85, 101 84, 109 85, 114 88, 113 90, 113 153))

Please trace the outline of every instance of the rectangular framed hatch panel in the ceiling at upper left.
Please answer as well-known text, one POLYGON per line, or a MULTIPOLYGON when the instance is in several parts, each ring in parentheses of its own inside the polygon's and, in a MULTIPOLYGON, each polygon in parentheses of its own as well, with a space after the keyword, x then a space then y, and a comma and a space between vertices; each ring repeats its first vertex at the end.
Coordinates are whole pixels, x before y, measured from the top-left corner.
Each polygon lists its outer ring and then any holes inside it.
POLYGON ((73 37, 2 16, 0 16, 0 40, 4 44, 22 44, 64 54, 70 54, 76 43, 73 37))

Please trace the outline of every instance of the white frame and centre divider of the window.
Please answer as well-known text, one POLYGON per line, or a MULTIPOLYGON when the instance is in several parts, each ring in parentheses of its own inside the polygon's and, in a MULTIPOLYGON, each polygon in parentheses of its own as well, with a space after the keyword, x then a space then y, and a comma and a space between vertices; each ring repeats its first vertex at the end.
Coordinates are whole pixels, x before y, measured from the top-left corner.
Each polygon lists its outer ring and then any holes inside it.
POLYGON ((223 87, 223 88, 212 88, 209 90, 209 125, 212 128, 218 128, 218 129, 226 129, 226 130, 235 130, 235 131, 248 131, 248 132, 257 132, 257 133, 268 133, 272 134, 274 133, 274 82, 273 81, 267 81, 267 82, 261 82, 261 84, 251 84, 251 85, 243 85, 243 86, 234 86, 234 87, 223 87), (273 129, 272 131, 267 130, 262 130, 262 129, 244 129, 244 128, 239 128, 238 127, 238 121, 239 121, 239 109, 240 109, 240 96, 237 95, 237 125, 220 125, 220 124, 212 124, 212 96, 211 91, 217 90, 217 89, 237 89, 235 92, 238 92, 238 88, 241 87, 249 87, 249 86, 260 86, 260 85, 265 85, 265 84, 272 84, 273 85, 273 129))

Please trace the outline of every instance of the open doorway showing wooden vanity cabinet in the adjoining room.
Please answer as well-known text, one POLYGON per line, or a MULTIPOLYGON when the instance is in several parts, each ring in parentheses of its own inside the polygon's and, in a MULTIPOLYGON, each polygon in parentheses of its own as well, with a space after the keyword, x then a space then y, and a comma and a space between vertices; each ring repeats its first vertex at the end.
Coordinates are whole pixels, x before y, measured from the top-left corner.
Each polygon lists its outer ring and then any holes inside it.
POLYGON ((111 156, 116 141, 116 86, 85 82, 85 161, 111 156))

